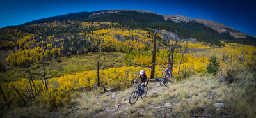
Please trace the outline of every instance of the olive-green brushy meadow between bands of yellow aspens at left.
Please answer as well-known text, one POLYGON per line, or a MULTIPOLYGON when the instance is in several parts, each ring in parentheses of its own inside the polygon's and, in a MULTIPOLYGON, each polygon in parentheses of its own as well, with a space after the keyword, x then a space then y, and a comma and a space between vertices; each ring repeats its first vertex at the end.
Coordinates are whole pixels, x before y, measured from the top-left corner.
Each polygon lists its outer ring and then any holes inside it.
MULTIPOLYGON (((73 57, 63 57, 61 62, 49 61, 49 65, 46 66, 45 73, 48 77, 60 77, 61 75, 79 73, 85 70, 95 70, 97 67, 97 56, 101 55, 102 59, 105 57, 106 61, 103 64, 103 68, 120 67, 124 66, 124 53, 111 52, 111 53, 90 53, 87 55, 77 55, 73 57)), ((36 80, 41 79, 39 71, 42 71, 42 64, 33 64, 31 66, 31 72, 36 80)), ((15 81, 19 78, 28 77, 27 69, 25 68, 10 68, 6 72, 1 72, 0 82, 15 81)))

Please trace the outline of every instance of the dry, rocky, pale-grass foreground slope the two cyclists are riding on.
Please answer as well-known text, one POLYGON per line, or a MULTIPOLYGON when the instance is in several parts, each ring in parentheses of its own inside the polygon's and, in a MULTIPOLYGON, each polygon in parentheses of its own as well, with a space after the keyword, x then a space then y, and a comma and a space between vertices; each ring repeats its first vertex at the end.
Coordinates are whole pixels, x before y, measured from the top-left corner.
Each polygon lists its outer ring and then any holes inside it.
MULTIPOLYGON (((180 82, 169 83, 167 87, 157 87, 158 83, 148 84, 148 94, 138 98, 134 105, 125 102, 134 87, 116 91, 116 98, 111 93, 74 92, 73 107, 61 108, 49 113, 44 108, 32 105, 26 108, 14 108, 15 114, 6 116, 34 117, 191 117, 191 115, 209 115, 214 117, 254 117, 256 105, 255 86, 252 73, 248 73, 241 87, 239 82, 227 84, 215 77, 194 75, 180 82), (218 110, 215 103, 225 103, 218 110), (115 105, 120 104, 119 107, 115 105), (170 105, 170 106, 168 106, 170 105), (33 114, 33 108, 38 114, 33 114), (41 115, 40 115, 41 114, 41 115)), ((13 112, 12 111, 12 112, 13 112)))

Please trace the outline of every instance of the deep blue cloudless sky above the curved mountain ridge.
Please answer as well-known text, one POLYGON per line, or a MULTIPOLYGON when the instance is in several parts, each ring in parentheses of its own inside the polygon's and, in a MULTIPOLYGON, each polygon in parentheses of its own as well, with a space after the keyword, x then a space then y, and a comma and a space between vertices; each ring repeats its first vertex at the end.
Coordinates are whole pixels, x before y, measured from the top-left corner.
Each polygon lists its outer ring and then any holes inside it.
POLYGON ((185 15, 220 22, 256 36, 256 2, 246 0, 82 1, 0 0, 0 27, 82 11, 138 9, 164 15, 185 15))

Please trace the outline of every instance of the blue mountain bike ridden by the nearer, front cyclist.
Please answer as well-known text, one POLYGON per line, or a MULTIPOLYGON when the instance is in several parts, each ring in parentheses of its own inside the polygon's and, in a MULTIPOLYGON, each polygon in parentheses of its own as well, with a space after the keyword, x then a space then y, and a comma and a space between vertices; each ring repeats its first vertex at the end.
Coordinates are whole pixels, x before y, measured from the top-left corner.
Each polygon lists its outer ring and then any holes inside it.
POLYGON ((136 87, 135 91, 133 91, 131 93, 130 98, 129 98, 129 103, 131 105, 136 103, 136 101, 138 100, 139 96, 141 98, 144 98, 146 96, 147 92, 148 92, 147 85, 144 86, 144 91, 142 91, 142 88, 140 87, 140 85, 138 85, 138 87, 136 87))

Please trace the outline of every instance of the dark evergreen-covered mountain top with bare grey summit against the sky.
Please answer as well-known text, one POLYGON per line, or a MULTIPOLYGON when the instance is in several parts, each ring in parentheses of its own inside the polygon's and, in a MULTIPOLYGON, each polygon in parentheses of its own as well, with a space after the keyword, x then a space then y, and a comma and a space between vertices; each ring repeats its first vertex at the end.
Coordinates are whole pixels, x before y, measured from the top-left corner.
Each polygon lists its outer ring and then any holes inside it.
MULTIPOLYGON (((42 18, 33 20, 17 26, 7 26, 4 28, 23 27, 31 24, 39 24, 51 21, 74 20, 83 22, 118 22, 124 23, 127 26, 134 26, 134 28, 156 28, 166 29, 168 31, 178 31, 182 38, 196 38, 198 41, 205 41, 207 43, 214 42, 214 40, 228 40, 230 42, 244 43, 252 42, 256 44, 256 38, 249 34, 242 33, 237 29, 225 26, 218 22, 211 20, 186 17, 184 15, 161 15, 152 11, 145 10, 102 10, 93 12, 78 12, 69 13, 66 15, 58 15, 49 18, 42 18), (198 23, 198 24, 197 24, 198 23), (202 25, 203 26, 202 26, 202 25), (209 29, 209 28, 213 29, 209 29)), ((221 43, 216 43, 221 45, 221 43)))

